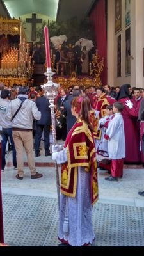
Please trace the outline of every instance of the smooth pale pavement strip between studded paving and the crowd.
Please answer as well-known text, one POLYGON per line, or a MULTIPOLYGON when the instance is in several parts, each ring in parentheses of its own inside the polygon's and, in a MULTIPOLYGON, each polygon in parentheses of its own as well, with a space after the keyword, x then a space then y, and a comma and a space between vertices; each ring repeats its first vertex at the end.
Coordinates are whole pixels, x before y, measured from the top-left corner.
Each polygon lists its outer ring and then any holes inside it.
MULTIPOLYGON (((2 173, 3 193, 57 198, 55 168, 41 166, 37 170, 44 177, 31 180, 29 168, 26 167, 24 179, 18 180, 15 178, 17 170, 8 167, 2 173)), ((143 169, 124 169, 124 177, 118 182, 106 181, 105 177, 108 173, 98 169, 99 202, 144 207, 144 198, 138 195, 138 191, 144 190, 143 169)))

